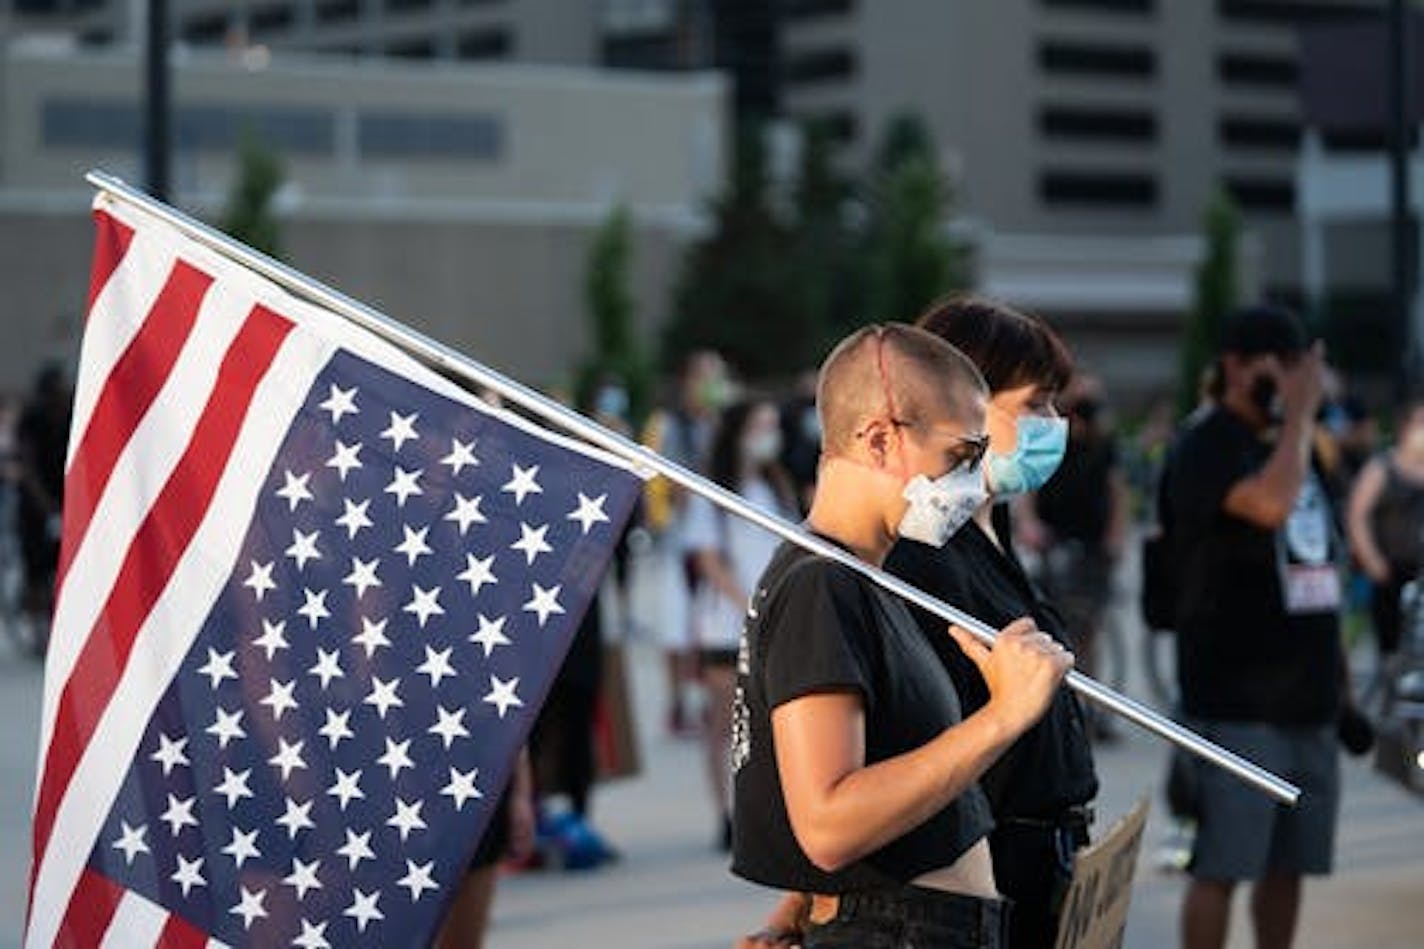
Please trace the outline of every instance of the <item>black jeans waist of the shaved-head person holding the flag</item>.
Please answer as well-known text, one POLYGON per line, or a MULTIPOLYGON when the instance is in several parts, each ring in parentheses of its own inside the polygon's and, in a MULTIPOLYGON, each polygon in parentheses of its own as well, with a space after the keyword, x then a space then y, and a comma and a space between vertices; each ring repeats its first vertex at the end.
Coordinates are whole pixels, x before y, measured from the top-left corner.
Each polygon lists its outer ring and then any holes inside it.
POLYGON ((809 923, 805 949, 1000 949, 1008 905, 921 886, 844 893, 834 919, 809 923))

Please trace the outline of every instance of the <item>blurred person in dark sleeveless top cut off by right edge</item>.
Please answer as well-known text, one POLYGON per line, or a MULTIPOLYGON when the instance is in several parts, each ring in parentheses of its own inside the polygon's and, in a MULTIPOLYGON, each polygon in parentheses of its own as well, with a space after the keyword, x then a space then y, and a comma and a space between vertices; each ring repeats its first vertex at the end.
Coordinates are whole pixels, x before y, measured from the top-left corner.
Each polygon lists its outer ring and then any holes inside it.
POLYGON ((1400 647, 1400 591, 1424 567, 1424 393, 1400 406, 1394 445, 1371 457, 1350 492, 1350 550, 1370 579, 1370 620, 1378 664, 1400 647))

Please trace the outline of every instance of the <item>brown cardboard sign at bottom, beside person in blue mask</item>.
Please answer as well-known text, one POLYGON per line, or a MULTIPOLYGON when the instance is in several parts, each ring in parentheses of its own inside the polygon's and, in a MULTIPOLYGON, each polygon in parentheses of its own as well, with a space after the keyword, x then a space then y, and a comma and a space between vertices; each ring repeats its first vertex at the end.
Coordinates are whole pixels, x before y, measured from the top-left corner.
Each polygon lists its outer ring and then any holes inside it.
POLYGON ((1058 921, 1057 949, 1116 949, 1122 945, 1148 807, 1148 799, 1142 798, 1102 839, 1078 851, 1058 921))

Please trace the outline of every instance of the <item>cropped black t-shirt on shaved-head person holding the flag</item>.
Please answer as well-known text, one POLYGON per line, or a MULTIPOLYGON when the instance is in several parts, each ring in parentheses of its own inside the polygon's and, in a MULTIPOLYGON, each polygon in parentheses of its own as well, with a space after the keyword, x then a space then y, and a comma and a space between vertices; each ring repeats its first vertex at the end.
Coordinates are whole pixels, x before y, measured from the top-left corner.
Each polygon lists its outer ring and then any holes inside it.
POLYGON ((960 721, 954 684, 906 604, 849 567, 782 544, 743 627, 732 717, 732 872, 779 889, 844 893, 899 886, 951 865, 993 822, 975 787, 943 811, 834 873, 792 832, 772 710, 816 693, 864 702, 866 764, 913 751, 960 721))

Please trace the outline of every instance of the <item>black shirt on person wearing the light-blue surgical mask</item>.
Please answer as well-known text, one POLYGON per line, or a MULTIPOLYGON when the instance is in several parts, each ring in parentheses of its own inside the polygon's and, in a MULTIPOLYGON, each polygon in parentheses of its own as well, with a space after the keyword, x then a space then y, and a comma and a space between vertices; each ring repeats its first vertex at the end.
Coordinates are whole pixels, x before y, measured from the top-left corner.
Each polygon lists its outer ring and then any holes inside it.
MULTIPOLYGON (((941 549, 901 540, 890 550, 886 570, 995 628, 1031 616, 1038 628, 1065 641, 1062 618, 1038 594, 1011 547, 1000 550, 974 522, 941 549)), ((964 712, 981 708, 988 685, 950 637, 948 624, 918 607, 911 611, 954 680, 964 712)), ((981 784, 995 819, 1052 819, 1091 801, 1098 775, 1078 697, 1059 688, 1038 724, 1000 755, 981 784)))

